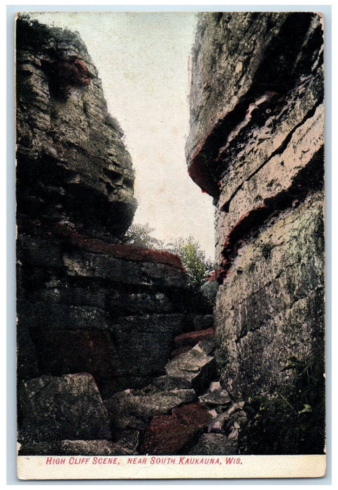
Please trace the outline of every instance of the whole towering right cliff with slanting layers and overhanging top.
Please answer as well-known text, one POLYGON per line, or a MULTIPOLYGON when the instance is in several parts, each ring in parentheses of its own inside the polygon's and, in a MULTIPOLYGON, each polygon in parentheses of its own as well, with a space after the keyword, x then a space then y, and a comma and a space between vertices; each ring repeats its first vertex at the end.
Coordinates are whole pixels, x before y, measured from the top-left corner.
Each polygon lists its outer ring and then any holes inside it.
POLYGON ((223 386, 276 394, 290 358, 323 385, 321 15, 202 14, 190 107, 189 173, 216 206, 223 386))

